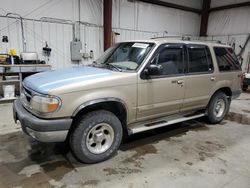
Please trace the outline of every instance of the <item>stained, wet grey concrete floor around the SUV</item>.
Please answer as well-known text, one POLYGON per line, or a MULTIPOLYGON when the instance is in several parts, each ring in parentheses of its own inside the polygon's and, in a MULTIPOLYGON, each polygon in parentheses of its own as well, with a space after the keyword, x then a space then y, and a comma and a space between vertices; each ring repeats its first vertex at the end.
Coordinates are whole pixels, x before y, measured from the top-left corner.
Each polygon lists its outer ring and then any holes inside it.
POLYGON ((77 162, 66 144, 43 144, 0 105, 0 187, 250 187, 250 94, 221 124, 197 119, 130 137, 112 159, 77 162))

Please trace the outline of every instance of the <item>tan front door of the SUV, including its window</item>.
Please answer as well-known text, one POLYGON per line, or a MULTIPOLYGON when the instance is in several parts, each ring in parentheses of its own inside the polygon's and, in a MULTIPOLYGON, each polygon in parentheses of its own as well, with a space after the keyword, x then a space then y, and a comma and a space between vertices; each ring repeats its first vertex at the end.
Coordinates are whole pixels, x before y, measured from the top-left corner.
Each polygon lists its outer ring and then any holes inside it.
POLYGON ((183 45, 161 45, 138 78, 138 121, 171 115, 181 110, 184 72, 183 45), (151 74, 150 65, 161 68, 158 73, 151 74), (145 72, 149 72, 149 75, 145 75, 145 72))

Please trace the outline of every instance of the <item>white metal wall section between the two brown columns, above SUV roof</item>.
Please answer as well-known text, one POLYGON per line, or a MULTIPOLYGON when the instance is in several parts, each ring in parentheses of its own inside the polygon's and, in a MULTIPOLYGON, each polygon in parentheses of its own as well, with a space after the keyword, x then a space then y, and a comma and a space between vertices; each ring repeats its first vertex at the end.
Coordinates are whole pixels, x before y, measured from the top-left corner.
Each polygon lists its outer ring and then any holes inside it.
MULTIPOLYGON (((190 7, 195 4, 196 8, 201 8, 200 0, 179 0, 177 3, 190 7)), ((159 36, 166 31, 169 35, 198 35, 200 15, 138 1, 113 0, 112 25, 114 28, 156 32, 159 36)))

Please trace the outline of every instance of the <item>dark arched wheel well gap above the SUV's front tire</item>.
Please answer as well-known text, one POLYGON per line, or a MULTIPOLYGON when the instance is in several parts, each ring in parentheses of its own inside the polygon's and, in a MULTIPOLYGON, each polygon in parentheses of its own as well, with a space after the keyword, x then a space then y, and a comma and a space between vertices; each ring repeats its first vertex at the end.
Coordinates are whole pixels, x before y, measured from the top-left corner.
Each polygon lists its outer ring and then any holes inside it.
POLYGON ((92 104, 89 106, 86 106, 85 108, 81 109, 74 117, 73 117, 73 123, 72 123, 72 128, 74 127, 75 122, 77 120, 92 111, 96 110, 107 110, 112 112, 120 121, 123 127, 123 132, 125 135, 128 134, 127 130, 127 110, 126 107, 117 101, 105 101, 105 102, 99 102, 96 104, 92 104))

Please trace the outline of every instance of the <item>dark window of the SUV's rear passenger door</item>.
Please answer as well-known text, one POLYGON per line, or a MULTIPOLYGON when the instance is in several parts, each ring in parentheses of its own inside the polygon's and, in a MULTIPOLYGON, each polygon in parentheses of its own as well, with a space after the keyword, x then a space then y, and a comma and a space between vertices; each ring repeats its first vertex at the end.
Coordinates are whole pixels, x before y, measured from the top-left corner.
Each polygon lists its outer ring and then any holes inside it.
POLYGON ((187 49, 189 73, 211 72, 213 70, 211 54, 206 46, 187 45, 187 49))

